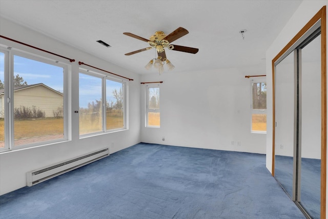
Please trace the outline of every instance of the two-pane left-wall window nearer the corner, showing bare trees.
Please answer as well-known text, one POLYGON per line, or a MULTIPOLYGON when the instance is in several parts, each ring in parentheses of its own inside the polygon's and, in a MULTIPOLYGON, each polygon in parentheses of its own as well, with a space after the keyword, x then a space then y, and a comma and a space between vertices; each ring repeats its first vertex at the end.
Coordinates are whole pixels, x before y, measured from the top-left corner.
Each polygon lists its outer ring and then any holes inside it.
POLYGON ((79 73, 79 134, 125 129, 125 82, 81 70, 79 73), (103 103, 103 99, 106 102, 103 103))

